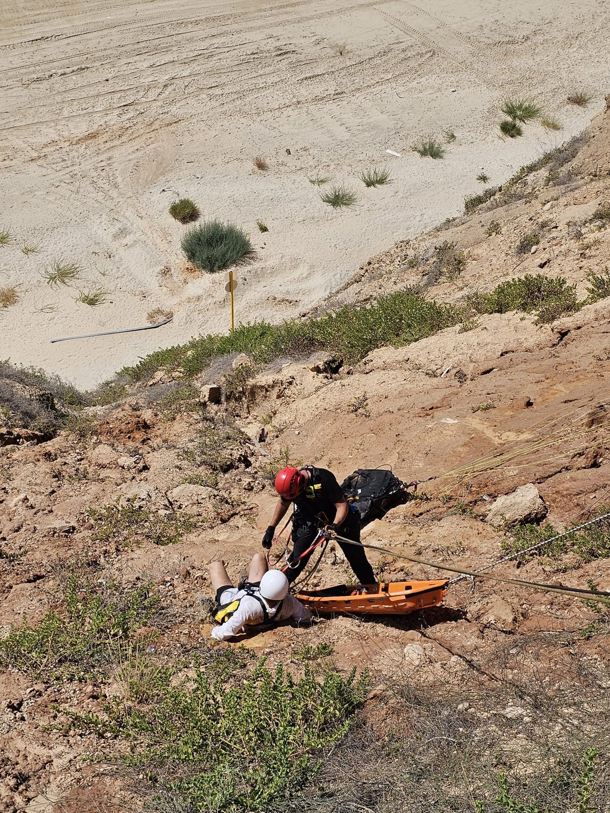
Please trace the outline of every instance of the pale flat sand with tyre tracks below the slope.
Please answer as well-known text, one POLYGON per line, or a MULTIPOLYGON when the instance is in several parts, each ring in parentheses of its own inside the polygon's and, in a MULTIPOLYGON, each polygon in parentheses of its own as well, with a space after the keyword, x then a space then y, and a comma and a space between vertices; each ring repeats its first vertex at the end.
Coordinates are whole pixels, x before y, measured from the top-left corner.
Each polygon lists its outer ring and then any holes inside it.
POLYGON ((253 238, 237 321, 281 320, 371 254, 459 214, 464 194, 481 191, 481 168, 497 184, 579 132, 608 85, 607 2, 117 5, 38 0, 26 11, 5 0, 0 9, 0 225, 12 238, 0 246, 0 287, 20 294, 0 311, 0 358, 81 386, 228 328, 224 275, 185 268, 184 227, 168 215, 176 197, 253 238), (565 103, 575 88, 595 93, 585 110, 565 103), (563 131, 532 124, 503 141, 509 95, 536 98, 563 131), (456 139, 442 161, 411 150, 447 129, 456 139), (365 189, 357 176, 374 163, 393 182, 365 189), (358 204, 325 206, 307 180, 316 172, 355 189, 358 204), (70 287, 41 276, 57 260, 81 267, 70 287), (89 289, 107 301, 75 301, 89 289), (155 307, 173 322, 50 344, 146 324, 155 307))

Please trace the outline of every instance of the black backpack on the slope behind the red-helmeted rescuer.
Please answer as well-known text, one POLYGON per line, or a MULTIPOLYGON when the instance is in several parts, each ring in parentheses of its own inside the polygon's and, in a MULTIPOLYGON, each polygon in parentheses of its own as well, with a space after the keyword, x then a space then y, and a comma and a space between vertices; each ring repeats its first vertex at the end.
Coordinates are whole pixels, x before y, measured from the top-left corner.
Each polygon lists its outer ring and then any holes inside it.
POLYGON ((359 468, 343 480, 341 488, 351 511, 359 514, 360 528, 412 498, 407 485, 386 468, 359 468))

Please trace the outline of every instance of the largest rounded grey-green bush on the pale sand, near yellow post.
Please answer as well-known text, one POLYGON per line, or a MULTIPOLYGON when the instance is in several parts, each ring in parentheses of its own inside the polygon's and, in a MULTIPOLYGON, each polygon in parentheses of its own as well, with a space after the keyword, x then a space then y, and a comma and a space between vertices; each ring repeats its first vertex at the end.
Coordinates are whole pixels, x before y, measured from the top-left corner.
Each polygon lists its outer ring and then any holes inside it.
POLYGON ((190 228, 182 237, 181 246, 195 267, 210 273, 246 263, 254 255, 246 232, 220 220, 207 220, 190 228))

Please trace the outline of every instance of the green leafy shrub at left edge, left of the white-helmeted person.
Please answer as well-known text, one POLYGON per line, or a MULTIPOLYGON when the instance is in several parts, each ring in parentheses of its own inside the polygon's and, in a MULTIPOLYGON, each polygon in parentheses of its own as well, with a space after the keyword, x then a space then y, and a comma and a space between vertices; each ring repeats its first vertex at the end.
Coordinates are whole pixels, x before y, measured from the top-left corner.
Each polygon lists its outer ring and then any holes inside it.
POLYGON ((92 585, 74 574, 61 609, 47 612, 35 627, 24 618, 0 639, 0 668, 61 681, 99 675, 126 646, 138 642, 137 629, 150 620, 158 602, 151 585, 125 587, 114 580, 92 585))

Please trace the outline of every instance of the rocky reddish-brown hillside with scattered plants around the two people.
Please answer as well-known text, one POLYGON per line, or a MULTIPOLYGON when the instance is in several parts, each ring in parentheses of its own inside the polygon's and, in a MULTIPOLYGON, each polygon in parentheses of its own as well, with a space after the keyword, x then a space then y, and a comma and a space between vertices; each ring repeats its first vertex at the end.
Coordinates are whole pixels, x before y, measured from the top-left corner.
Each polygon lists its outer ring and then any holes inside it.
MULTIPOLYGON (((407 800, 417 811, 533 811, 534 802, 564 810, 570 793, 585 805, 574 809, 608 809, 603 603, 462 580, 423 615, 319 620, 250 637, 246 650, 211 647, 206 610, 207 564, 224 559, 241 576, 286 460, 329 467, 339 479, 390 465, 403 480, 428 480, 420 498, 363 539, 450 567, 490 565, 610 511, 609 128, 607 113, 576 145, 480 205, 468 202, 464 218, 372 259, 327 303, 340 311, 408 287, 455 309, 419 341, 401 334, 402 346, 376 340, 371 352, 350 355, 320 340, 313 354, 294 344, 272 360, 233 350, 201 368, 194 350, 175 349, 165 364, 125 372, 94 405, 68 399, 62 414, 72 417, 59 433, 63 418, 36 429, 33 415, 20 425, 33 382, 7 367, 2 809, 246 809, 189 802, 172 785, 175 757, 119 767, 116 758, 139 746, 123 729, 101 733, 74 717, 106 719, 113 700, 146 706, 161 671, 176 685, 194 680, 218 650, 232 651, 233 674, 251 653, 295 674, 304 663, 318 673, 368 670, 359 724, 325 752, 301 795, 278 790, 277 810, 384 813, 407 800), (518 298, 514 285, 502 287, 526 275, 548 280, 522 281, 518 298), (504 495, 512 498, 497 502, 504 495), (83 761, 93 754, 105 759, 83 761), (529 806, 516 807, 517 798, 529 806)), ((362 350, 373 340, 359 341, 362 350)), ((36 386, 37 408, 55 414, 45 385, 36 386)), ((610 525, 593 528, 491 573, 609 590, 610 525)), ((281 553, 274 548, 272 559, 281 553)), ((447 576, 376 551, 370 559, 380 580, 447 576)), ((310 585, 346 579, 331 548, 310 585)))

